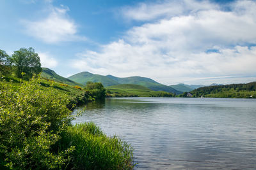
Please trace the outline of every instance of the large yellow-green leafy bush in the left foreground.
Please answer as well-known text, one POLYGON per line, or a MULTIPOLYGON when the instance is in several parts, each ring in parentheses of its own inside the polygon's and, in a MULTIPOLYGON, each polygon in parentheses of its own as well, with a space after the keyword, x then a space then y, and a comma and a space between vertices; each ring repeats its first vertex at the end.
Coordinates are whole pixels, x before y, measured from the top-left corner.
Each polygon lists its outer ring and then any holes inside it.
POLYGON ((53 87, 42 90, 39 79, 17 88, 0 81, 0 157, 13 169, 61 169, 74 150, 52 151, 60 132, 70 123, 67 96, 53 87))

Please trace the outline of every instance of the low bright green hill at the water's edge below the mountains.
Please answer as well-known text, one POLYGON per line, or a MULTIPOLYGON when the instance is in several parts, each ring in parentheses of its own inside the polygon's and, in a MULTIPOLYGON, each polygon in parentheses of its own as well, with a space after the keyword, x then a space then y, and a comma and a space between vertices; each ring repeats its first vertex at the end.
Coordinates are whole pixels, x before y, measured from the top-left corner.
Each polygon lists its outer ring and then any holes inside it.
POLYGON ((150 90, 133 84, 120 84, 106 87, 107 97, 174 97, 172 93, 150 90))

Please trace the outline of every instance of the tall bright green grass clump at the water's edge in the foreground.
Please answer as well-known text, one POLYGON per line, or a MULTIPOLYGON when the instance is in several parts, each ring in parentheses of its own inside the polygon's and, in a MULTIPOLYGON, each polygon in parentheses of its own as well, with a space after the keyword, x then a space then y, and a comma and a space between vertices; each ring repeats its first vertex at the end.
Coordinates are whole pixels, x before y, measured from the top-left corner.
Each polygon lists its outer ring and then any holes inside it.
POLYGON ((133 150, 115 136, 109 138, 93 123, 68 127, 61 148, 75 146, 68 169, 132 169, 133 150))

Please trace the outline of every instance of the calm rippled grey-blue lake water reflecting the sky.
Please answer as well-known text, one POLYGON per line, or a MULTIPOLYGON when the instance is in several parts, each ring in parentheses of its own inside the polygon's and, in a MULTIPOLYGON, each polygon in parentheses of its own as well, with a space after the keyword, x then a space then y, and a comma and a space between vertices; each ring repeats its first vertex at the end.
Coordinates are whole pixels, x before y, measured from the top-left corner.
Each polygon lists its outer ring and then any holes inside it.
POLYGON ((134 147, 135 169, 256 169, 256 100, 107 98, 95 122, 134 147))

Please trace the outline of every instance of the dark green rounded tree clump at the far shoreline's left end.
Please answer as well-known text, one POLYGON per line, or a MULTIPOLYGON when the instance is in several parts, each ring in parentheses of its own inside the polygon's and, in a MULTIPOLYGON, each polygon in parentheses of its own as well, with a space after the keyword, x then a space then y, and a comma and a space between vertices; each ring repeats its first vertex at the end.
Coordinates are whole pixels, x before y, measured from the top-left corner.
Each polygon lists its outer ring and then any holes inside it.
POLYGON ((85 90, 95 99, 104 99, 106 89, 102 83, 87 81, 85 90))

